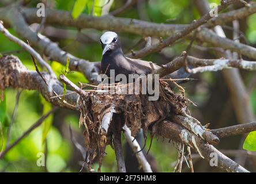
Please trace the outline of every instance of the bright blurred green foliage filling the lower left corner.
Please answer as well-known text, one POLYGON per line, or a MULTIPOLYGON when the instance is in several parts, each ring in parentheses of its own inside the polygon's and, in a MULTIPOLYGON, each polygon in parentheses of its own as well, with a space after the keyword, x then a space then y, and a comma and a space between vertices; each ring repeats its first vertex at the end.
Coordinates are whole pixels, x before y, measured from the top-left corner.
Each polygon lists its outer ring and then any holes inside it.
MULTIPOLYGON (((16 97, 16 95, 14 95, 15 93, 16 90, 13 89, 5 90, 7 116, 13 112, 16 97)), ((22 92, 17 110, 17 117, 12 127, 11 143, 20 137, 22 133, 27 131, 27 129, 42 116, 44 105, 40 98, 41 97, 37 91, 24 90, 22 92)), ((38 159, 37 154, 39 152, 44 152, 44 145, 42 145, 44 123, 42 127, 32 131, 25 137, 25 139, 13 147, 5 158, 0 160, 0 170, 5 169, 6 167, 6 171, 8 172, 43 172, 46 171, 46 169, 47 171, 73 171, 66 169, 73 149, 70 140, 63 138, 59 129, 52 125, 47 133, 47 154, 50 158, 51 155, 58 155, 61 159, 58 159, 55 162, 52 162, 52 159, 47 160, 47 163, 49 164, 47 168, 36 166, 36 160, 38 159), (63 164, 63 162, 65 162, 65 164, 63 164), (52 164, 56 164, 56 167, 52 164)), ((6 132, 6 130, 7 127, 3 127, 3 132, 6 132)), ((3 141, 5 142, 6 134, 4 135, 5 137, 3 141)), ((0 137, 0 146, 1 141, 2 137, 0 137)))

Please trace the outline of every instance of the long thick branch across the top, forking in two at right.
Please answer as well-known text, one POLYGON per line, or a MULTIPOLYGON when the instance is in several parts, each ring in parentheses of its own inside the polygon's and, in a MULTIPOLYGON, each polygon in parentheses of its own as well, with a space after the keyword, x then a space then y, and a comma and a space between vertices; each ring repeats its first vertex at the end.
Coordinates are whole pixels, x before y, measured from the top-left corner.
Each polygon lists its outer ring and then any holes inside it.
MULTIPOLYGON (((25 15, 26 20, 29 23, 41 22, 41 17, 36 16, 36 10, 37 9, 31 9, 31 8, 22 8, 22 13, 25 15)), ((0 9, 0 18, 6 17, 6 11, 5 9, 0 9)), ((206 23, 206 26, 214 26, 218 24, 225 24, 229 21, 236 20, 236 19, 242 19, 244 17, 250 16, 250 14, 253 14, 256 12, 256 3, 251 3, 250 7, 243 7, 242 9, 229 11, 228 13, 220 14, 218 17, 212 18, 210 23, 206 23), (209 25, 208 25, 209 24, 209 25)), ((176 24, 156 24, 152 22, 147 21, 140 21, 140 20, 134 20, 130 18, 115 18, 111 16, 103 16, 103 17, 91 17, 86 16, 82 14, 80 18, 78 18, 77 21, 74 21, 71 17, 70 13, 67 13, 65 11, 59 11, 59 10, 46 10, 47 14, 47 24, 57 24, 57 25, 63 25, 63 26, 73 26, 79 29, 82 28, 95 28, 99 30, 114 30, 114 31, 122 31, 122 32, 129 32, 129 33, 135 33, 140 34, 142 36, 170 36, 174 34, 175 32, 180 32, 182 29, 185 29, 188 25, 176 25, 176 24)), ((8 19, 8 18, 7 18, 8 19)), ((211 36, 208 36, 207 34, 210 33, 209 29, 201 29, 197 33, 197 39, 200 39, 202 41, 205 41, 210 44, 216 44, 216 38, 218 40, 222 40, 222 42, 225 43, 226 49, 231 49, 232 51, 238 51, 237 46, 234 47, 234 41, 230 41, 228 39, 223 39, 219 36, 217 36, 214 33, 211 33, 211 36)), ((217 41, 219 43, 219 41, 217 41)), ((250 51, 250 54, 246 51, 242 51, 243 55, 253 55, 253 59, 255 59, 255 49, 253 47, 250 47, 246 45, 245 47, 243 44, 236 43, 236 45, 239 45, 239 47, 242 47, 243 49, 246 49, 250 51)), ((218 46, 222 47, 222 44, 219 44, 218 46)), ((241 52, 239 52, 241 53, 241 52)))

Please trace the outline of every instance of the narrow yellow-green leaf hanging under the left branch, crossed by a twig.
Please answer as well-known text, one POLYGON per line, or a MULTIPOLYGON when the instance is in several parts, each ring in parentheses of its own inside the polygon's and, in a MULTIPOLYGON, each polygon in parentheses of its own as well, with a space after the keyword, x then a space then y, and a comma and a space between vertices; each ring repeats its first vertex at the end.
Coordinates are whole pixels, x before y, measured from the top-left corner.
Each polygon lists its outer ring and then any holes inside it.
MULTIPOLYGON (((52 106, 50 102, 47 102, 46 99, 44 99, 41 95, 40 97, 41 97, 41 103, 43 104, 43 114, 46 114, 49 110, 52 109, 52 106)), ((46 141, 48 132, 51 129, 52 120, 53 120, 53 115, 51 114, 43 122, 42 144, 44 144, 44 142, 46 141)))

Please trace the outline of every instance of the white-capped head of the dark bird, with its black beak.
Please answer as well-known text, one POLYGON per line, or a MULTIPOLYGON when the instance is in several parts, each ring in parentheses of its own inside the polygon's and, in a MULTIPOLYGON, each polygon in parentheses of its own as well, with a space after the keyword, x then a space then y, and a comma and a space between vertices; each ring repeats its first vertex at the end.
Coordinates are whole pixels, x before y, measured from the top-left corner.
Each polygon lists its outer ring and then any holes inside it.
POLYGON ((101 47, 103 49, 102 55, 106 52, 115 51, 121 48, 121 43, 119 41, 118 35, 115 32, 106 32, 100 37, 101 47))

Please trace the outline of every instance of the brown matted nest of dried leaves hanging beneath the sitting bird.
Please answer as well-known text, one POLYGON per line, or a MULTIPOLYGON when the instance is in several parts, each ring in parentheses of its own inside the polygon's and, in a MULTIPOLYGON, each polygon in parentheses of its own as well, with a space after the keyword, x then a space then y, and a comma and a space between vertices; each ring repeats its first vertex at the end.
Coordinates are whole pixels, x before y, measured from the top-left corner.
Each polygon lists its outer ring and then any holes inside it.
MULTIPOLYGON (((117 90, 122 91, 127 86, 117 87, 117 90)), ((106 145, 112 145, 111 127, 118 126, 118 123, 122 124, 118 127, 126 124, 131 129, 131 136, 135 137, 141 128, 146 135, 150 126, 170 118, 172 114, 187 113, 187 105, 190 102, 184 95, 172 91, 168 83, 161 80, 157 101, 149 101, 149 96, 142 94, 100 94, 95 91, 90 92, 89 96, 90 98, 82 99, 79 103, 80 125, 85 126, 85 147, 88 151, 86 161, 89 168, 96 156, 99 156, 101 166, 106 145), (114 113, 113 117, 119 114, 121 118, 113 118, 110 128, 106 131, 101 127, 101 122, 104 115, 109 112, 114 113)))

